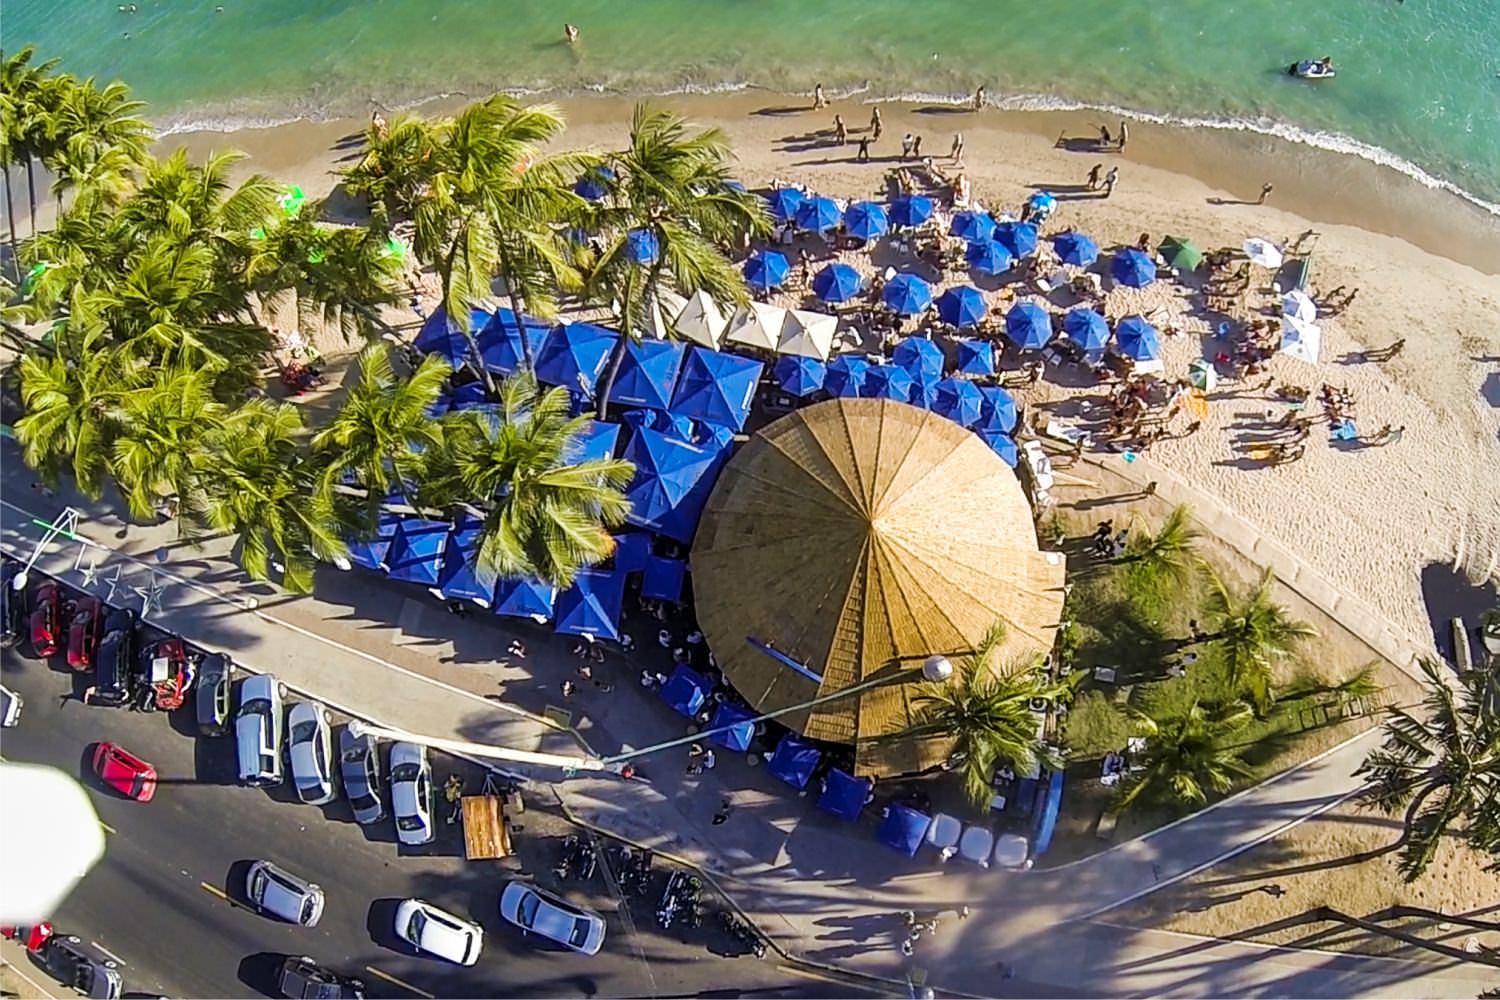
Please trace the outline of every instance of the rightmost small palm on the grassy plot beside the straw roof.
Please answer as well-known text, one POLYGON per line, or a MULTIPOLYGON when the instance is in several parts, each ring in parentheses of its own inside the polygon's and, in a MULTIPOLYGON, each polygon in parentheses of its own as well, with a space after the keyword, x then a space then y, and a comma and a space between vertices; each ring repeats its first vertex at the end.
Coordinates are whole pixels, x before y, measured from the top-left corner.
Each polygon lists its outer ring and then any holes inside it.
POLYGON ((1230 594, 1218 574, 1210 571, 1208 577, 1206 610, 1214 625, 1208 640, 1218 646, 1230 684, 1251 697, 1257 712, 1264 712, 1270 706, 1275 663, 1300 640, 1317 636, 1317 630, 1276 604, 1270 568, 1244 595, 1230 594))

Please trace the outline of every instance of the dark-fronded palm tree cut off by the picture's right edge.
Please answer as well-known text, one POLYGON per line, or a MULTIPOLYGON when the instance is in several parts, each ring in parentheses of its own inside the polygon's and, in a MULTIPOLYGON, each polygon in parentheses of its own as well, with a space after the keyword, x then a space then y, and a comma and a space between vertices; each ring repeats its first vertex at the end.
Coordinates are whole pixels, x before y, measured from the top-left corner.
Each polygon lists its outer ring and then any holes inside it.
POLYGON ((1420 667, 1424 718, 1389 711, 1384 744, 1356 772, 1370 781, 1360 801, 1388 814, 1406 810, 1407 882, 1426 871, 1455 828, 1500 868, 1500 714, 1486 697, 1490 676, 1470 670, 1455 679, 1428 658, 1420 667))

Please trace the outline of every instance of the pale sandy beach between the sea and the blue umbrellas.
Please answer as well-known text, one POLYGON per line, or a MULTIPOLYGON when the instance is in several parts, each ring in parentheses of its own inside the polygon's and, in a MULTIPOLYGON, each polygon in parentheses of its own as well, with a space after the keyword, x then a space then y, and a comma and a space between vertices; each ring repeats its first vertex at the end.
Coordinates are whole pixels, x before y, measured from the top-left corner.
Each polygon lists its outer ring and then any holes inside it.
MULTIPOLYGON (((1098 154, 1059 144, 1059 136, 1096 133, 1098 117, 1086 112, 970 114, 885 103, 885 133, 872 150, 873 162, 856 163, 854 141, 870 118, 866 103, 834 100, 812 111, 802 97, 765 93, 660 103, 699 124, 722 126, 752 187, 780 178, 840 198, 885 196, 885 171, 896 165, 904 132, 921 135, 924 153, 944 169, 952 169, 946 151, 954 132, 963 132, 964 172, 987 207, 1016 211, 1036 187, 1062 195, 1044 232, 1077 228, 1101 247, 1136 243, 1142 232, 1154 244, 1174 234, 1210 249, 1238 247, 1252 235, 1282 243, 1316 231, 1314 297, 1341 285, 1359 289, 1347 312, 1322 321, 1320 364, 1278 355, 1266 375, 1226 381, 1209 393, 1197 433, 1161 441, 1152 457, 1300 552, 1419 643, 1432 642, 1434 621, 1473 615, 1494 600, 1500 580, 1500 222, 1494 216, 1366 160, 1252 133, 1131 123, 1124 154, 1098 154), (834 114, 850 129, 849 145, 832 144, 834 114), (1077 190, 1096 162, 1120 168, 1108 199, 1077 190), (1263 183, 1275 190, 1257 205, 1263 183), (1398 339, 1406 345, 1392 361, 1364 358, 1366 348, 1398 339), (1246 454, 1268 415, 1282 412, 1260 390, 1268 375, 1314 391, 1322 382, 1347 387, 1362 433, 1390 424, 1404 427, 1404 435, 1384 447, 1336 448, 1328 429, 1316 426, 1302 460, 1269 468, 1246 454)), ((624 99, 566 102, 567 145, 621 145, 628 108, 624 99)), ((250 154, 246 169, 322 193, 336 181, 336 157, 346 154, 333 151, 334 142, 362 126, 298 121, 174 135, 164 145, 240 148, 250 154)), ((1155 310, 1158 327, 1179 331, 1164 343, 1167 379, 1184 376, 1194 358, 1226 349, 1194 315, 1180 285, 1107 294, 1112 318, 1155 310)), ((1048 372, 1023 396, 1077 414, 1083 409, 1077 397, 1098 394, 1094 387, 1058 384, 1048 372)))

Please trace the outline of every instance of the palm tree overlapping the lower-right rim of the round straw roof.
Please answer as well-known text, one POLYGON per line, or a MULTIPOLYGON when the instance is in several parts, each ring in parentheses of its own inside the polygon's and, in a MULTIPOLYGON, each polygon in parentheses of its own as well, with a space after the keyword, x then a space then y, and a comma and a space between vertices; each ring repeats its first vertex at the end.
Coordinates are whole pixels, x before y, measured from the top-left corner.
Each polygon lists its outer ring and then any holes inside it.
POLYGON ((948 739, 962 760, 963 793, 975 810, 988 808, 994 769, 1028 772, 1038 765, 1060 768, 1056 751, 1036 735, 1032 702, 1068 697, 1068 684, 1053 684, 1035 669, 1000 672, 994 658, 1005 642, 996 622, 942 684, 924 684, 912 697, 912 721, 880 741, 948 739))

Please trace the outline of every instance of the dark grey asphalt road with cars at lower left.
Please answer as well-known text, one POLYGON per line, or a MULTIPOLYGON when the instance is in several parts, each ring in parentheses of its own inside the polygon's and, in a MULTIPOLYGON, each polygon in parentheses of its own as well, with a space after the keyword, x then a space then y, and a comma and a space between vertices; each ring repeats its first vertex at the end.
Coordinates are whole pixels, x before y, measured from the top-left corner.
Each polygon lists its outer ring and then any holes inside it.
MULTIPOLYGON (((78 775, 106 826, 104 861, 63 903, 54 924, 122 960, 128 994, 274 994, 280 958, 298 954, 360 976, 372 997, 852 996, 848 987, 804 978, 774 958, 723 957, 728 942, 716 940, 712 918, 681 937, 658 931, 651 901, 638 901, 630 919, 630 909, 621 913, 598 877, 590 888, 561 889, 606 916, 600 955, 522 939, 500 921, 496 901, 502 883, 518 874, 558 888, 549 868, 566 828, 536 808, 540 795, 528 796, 514 859, 465 861, 456 826, 414 852, 398 847, 388 823, 356 825, 342 801, 316 808, 294 802, 285 787, 270 793, 238 787, 231 741, 190 736, 190 720, 64 699, 81 688, 81 678, 60 663, 8 649, 3 666, 6 685, 26 699, 21 726, 4 730, 4 757, 78 775), (93 778, 88 753, 100 739, 156 766, 154 801, 124 801, 93 778), (244 868, 256 858, 324 888, 327 907, 316 928, 285 925, 238 903, 244 868), (480 922, 480 963, 462 969, 398 943, 392 916, 406 897, 480 922)), ((435 765, 438 783, 448 768, 435 765)))

